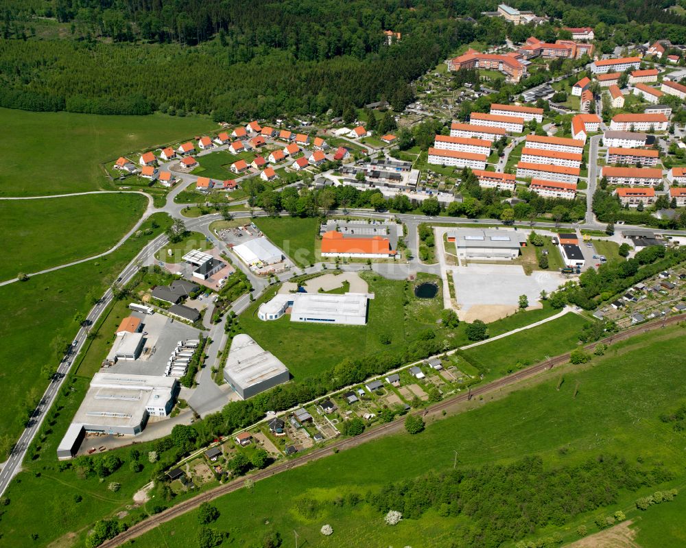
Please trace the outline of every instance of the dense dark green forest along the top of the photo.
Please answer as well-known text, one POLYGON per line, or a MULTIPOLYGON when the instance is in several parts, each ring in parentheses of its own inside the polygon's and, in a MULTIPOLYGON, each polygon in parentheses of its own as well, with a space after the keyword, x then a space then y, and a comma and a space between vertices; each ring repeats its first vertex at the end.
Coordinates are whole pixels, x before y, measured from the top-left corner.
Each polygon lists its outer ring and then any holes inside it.
MULTIPOLYGON (((673 1, 512 3, 563 25, 594 25, 600 51, 608 52, 630 41, 685 43, 686 20, 663 10, 673 1)), ((410 83, 460 45, 556 38, 552 25, 513 27, 481 15, 496 6, 497 0, 0 0, 0 106, 199 112, 217 121, 340 115, 381 99, 401 109, 412 101, 410 83), (40 32, 45 25, 51 32, 40 32), (388 40, 386 30, 401 33, 400 40, 388 40)))

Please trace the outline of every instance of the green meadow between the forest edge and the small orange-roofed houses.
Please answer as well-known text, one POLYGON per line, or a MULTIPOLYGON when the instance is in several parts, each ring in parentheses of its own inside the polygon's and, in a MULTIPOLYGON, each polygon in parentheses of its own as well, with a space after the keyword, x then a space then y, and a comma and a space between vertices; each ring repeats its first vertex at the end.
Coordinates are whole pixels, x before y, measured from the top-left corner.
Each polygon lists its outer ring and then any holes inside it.
MULTIPOLYGON (((211 130, 209 117, 100 116, 0 109, 0 195, 109 188, 101 163, 211 130)), ((130 158, 137 162, 138 157, 130 158)))

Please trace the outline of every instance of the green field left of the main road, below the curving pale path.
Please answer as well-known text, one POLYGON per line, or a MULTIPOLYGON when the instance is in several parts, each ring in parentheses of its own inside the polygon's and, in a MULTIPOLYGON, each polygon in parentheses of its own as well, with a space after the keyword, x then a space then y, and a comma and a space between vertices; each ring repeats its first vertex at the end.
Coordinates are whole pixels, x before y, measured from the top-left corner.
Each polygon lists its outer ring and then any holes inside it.
POLYGON ((33 409, 47 387, 41 368, 45 364, 56 368, 62 347, 78 331, 75 313, 91 309, 88 292, 102 296, 145 243, 168 226, 168 219, 156 213, 141 226, 148 235, 131 237, 106 257, 0 287, 0 339, 5 344, 0 356, 5 401, 0 409, 0 441, 4 443, 5 436, 12 441, 19 436, 26 410, 33 409), (159 225, 156 229, 151 228, 153 220, 159 225))

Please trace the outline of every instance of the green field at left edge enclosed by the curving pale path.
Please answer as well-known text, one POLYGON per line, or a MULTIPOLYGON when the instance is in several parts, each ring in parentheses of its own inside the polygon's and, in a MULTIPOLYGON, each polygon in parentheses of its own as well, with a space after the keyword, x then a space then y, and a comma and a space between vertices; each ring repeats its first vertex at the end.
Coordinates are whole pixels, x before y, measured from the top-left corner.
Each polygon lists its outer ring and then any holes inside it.
POLYGON ((89 194, 1 200, 4 259, 0 280, 102 253, 123 237, 147 206, 138 194, 89 194), (84 230, 91 226, 93 230, 84 230))

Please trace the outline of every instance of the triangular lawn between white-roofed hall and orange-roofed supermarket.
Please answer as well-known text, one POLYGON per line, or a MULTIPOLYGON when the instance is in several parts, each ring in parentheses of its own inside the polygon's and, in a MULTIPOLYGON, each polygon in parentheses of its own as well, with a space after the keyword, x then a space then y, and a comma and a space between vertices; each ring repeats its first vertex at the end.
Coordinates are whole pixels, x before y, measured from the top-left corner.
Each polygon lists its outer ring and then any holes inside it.
POLYGON ((315 261, 315 239, 319 234, 319 220, 311 217, 258 217, 257 227, 275 246, 281 248, 298 266, 315 261))

